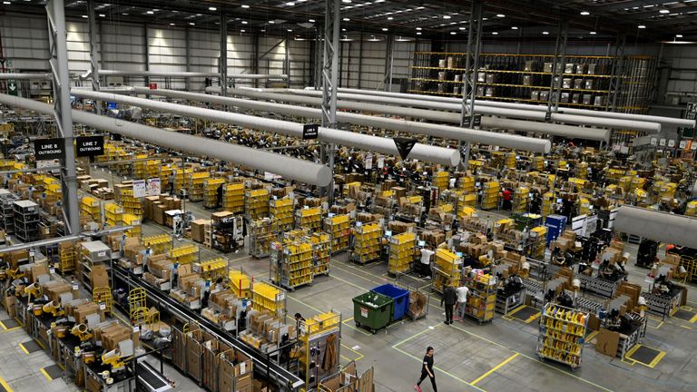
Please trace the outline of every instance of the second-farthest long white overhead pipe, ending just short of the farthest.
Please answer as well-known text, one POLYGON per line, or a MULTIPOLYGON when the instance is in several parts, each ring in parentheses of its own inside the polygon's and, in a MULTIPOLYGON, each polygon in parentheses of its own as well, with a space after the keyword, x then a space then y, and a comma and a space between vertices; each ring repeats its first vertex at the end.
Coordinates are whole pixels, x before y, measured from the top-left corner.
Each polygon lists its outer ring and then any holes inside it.
MULTIPOLYGON (((303 95, 310 96, 320 96, 321 91, 315 90, 302 90, 302 89, 288 89, 289 93, 299 93, 303 95)), ((403 106, 415 106, 432 110, 446 110, 451 112, 462 111, 462 103, 440 103, 440 102, 428 102, 420 100, 417 95, 416 98, 393 98, 387 96, 377 96, 377 95, 366 95, 366 94, 355 94, 355 93, 339 93, 340 99, 353 100, 365 103, 390 103, 403 106)), ((512 117, 520 118, 526 120, 535 121, 546 121, 547 113, 533 112, 523 109, 509 109, 496 106, 475 106, 475 113, 478 114, 488 114, 496 115, 500 117, 512 117)), ((633 120, 618 120, 612 118, 600 118, 583 116, 576 114, 565 114, 565 113, 550 113, 550 121, 553 122, 564 122, 564 123, 574 123, 583 125, 599 126, 604 128, 615 128, 615 129, 631 129, 635 131, 661 132, 661 124, 658 122, 641 122, 633 120)))

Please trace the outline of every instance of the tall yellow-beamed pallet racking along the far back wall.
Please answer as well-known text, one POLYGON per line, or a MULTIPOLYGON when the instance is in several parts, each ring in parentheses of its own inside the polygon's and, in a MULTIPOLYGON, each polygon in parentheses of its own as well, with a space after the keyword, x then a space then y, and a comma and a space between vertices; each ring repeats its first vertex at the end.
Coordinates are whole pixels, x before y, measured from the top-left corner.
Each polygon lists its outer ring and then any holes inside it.
MULTIPOLYGON (((464 53, 417 52, 409 78, 409 93, 462 96, 464 53)), ((653 86, 655 59, 627 55, 617 71, 619 91, 611 91, 612 56, 566 55, 562 67, 560 106, 607 110, 617 95, 619 112, 645 113, 653 86)), ((552 83, 553 54, 480 54, 476 98, 546 104, 552 83)))

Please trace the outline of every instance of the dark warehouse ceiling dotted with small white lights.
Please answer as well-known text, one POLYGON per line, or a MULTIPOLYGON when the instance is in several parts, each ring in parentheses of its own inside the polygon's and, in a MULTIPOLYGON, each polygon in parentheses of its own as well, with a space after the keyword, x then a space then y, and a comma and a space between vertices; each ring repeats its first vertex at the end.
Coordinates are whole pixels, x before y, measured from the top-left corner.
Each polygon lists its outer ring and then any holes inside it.
MULTIPOLYGON (((86 0, 64 0, 69 17, 86 18, 86 0)), ((697 0, 486 0, 485 39, 554 40, 560 20, 570 38, 632 42, 697 40, 697 0), (681 36, 682 35, 682 36, 681 36)), ((228 15, 232 34, 316 36, 324 0, 95 0, 97 18, 113 23, 196 26, 218 29, 228 15)), ((43 14, 45 0, 3 1, 0 12, 43 14)), ((341 0, 344 40, 466 39, 471 2, 457 0, 341 0)))

